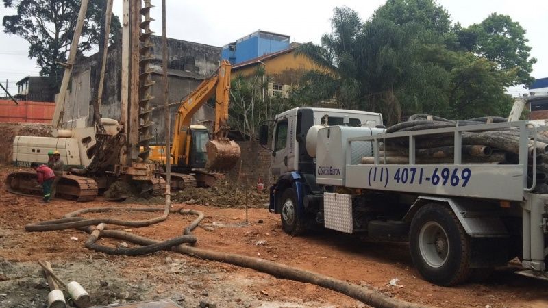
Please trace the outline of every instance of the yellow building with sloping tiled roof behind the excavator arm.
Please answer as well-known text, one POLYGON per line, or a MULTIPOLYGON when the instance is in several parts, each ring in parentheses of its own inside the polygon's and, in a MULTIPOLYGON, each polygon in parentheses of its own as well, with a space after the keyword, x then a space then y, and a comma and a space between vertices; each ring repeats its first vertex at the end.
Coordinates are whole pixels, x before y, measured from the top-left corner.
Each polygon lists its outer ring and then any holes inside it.
POLYGON ((232 76, 252 76, 258 67, 264 68, 269 78, 269 95, 279 93, 288 97, 289 89, 299 84, 299 79, 308 70, 320 68, 304 55, 295 55, 295 47, 290 47, 276 53, 256 57, 232 66, 232 76))

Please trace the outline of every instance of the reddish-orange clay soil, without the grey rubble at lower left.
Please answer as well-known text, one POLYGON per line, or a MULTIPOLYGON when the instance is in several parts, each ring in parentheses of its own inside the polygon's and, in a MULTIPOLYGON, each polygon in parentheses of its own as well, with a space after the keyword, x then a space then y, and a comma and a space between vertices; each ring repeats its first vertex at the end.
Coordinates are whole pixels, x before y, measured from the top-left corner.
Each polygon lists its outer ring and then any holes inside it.
MULTIPOLYGON (((0 180, 5 180, 7 171, 0 171, 0 180)), ((3 184, 0 184, 3 185, 3 184)), ((0 229, 9 231, 8 235, 16 244, 5 245, 0 250, 0 261, 4 259, 12 264, 25 261, 47 259, 53 263, 70 262, 89 258, 123 262, 123 277, 128 281, 137 281, 143 274, 151 275, 154 264, 164 262, 166 258, 177 259, 193 266, 206 266, 219 274, 219 280, 238 279, 253 283, 234 284, 235 294, 247 294, 256 303, 268 300, 271 303, 300 303, 302 306, 269 307, 362 307, 347 296, 325 290, 322 287, 295 281, 275 279, 268 274, 238 268, 213 261, 203 261, 171 252, 160 252, 144 257, 107 256, 92 253, 84 248, 86 233, 77 230, 50 231, 46 233, 27 233, 25 224, 42 220, 61 218, 64 214, 83 207, 142 207, 132 204, 112 204, 105 201, 76 203, 55 200, 48 205, 39 203, 38 198, 15 196, 5 192, 0 186, 0 229), (79 240, 71 240, 71 237, 79 240), (310 302, 316 304, 310 304, 310 302), (309 304, 306 304, 309 303, 309 304), (307 306, 308 305, 308 306, 307 306)), ((162 207, 162 205, 154 205, 162 207)), ((206 213, 201 226, 195 229, 198 237, 197 247, 239 253, 253 257, 262 257, 282 264, 296 266, 343 279, 358 285, 365 285, 396 298, 414 303, 423 303, 439 307, 548 307, 548 281, 539 281, 514 274, 519 264, 513 262, 506 268, 499 268, 492 277, 483 283, 468 283, 457 287, 439 287, 421 279, 412 266, 406 244, 364 242, 358 238, 334 231, 314 231, 301 237, 286 235, 279 216, 270 214, 267 209, 249 209, 249 224, 245 224, 245 209, 217 208, 212 205, 174 204, 173 207, 197 209, 206 213), (391 279, 398 279, 397 286, 390 285, 391 279)), ((125 214, 123 211, 110 214, 132 220, 147 219, 152 214, 125 214)), ((101 214, 105 216, 105 214, 101 214)), ((164 240, 179 235, 182 229, 194 219, 193 216, 172 215, 166 222, 151 227, 132 229, 133 233, 164 240)), ((123 228, 121 228, 123 229, 123 228)), ((104 242, 110 242, 105 240, 104 242)), ((154 273, 157 275, 158 273, 154 273)), ((149 276, 146 276, 149 277, 149 276)), ((160 279, 160 288, 177 289, 188 283, 186 277, 175 280, 160 279)), ((158 288, 158 285, 155 286, 158 288)), ((192 287, 192 285, 190 286, 192 287)), ((232 291, 232 290, 231 290, 232 291)), ((216 291, 210 291, 214 293, 216 291)), ((0 292, 2 293, 2 292, 0 292)), ((207 294, 206 294, 207 295, 207 294)), ((211 295, 213 296, 213 295, 211 295)), ((236 295, 234 295, 236 296, 236 295)), ((243 296, 243 295, 241 295, 243 296)), ((145 298, 147 299, 147 298, 145 298)), ((217 307, 233 307, 234 303, 221 300, 217 307), (232 303, 232 304, 231 304, 232 303)), ((188 301, 188 300, 187 300, 188 301)), ((287 304, 286 304, 287 305, 287 304)), ((234 307, 240 307, 234 304, 234 307)), ((242 306, 244 307, 244 306, 242 306)))

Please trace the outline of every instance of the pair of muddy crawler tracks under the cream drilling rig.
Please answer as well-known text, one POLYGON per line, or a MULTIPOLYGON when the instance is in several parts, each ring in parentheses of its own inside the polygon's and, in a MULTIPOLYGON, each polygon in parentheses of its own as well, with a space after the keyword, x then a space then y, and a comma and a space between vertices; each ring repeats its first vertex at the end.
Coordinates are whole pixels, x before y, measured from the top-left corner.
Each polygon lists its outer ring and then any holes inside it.
MULTIPOLYGON (((36 187, 36 172, 12 172, 5 181, 6 190, 23 196, 42 196, 42 188, 36 187)), ((78 175, 64 174, 57 184, 55 196, 79 202, 93 201, 97 196, 95 180, 78 175)))

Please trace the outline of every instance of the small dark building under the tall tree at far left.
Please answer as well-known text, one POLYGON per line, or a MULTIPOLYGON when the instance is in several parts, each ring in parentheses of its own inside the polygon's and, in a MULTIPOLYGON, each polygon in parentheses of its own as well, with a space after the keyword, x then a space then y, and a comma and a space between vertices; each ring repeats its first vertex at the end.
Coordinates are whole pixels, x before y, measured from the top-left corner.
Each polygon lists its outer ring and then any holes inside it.
POLYGON ((18 93, 14 97, 21 101, 53 102, 57 90, 48 77, 27 76, 17 81, 18 93))

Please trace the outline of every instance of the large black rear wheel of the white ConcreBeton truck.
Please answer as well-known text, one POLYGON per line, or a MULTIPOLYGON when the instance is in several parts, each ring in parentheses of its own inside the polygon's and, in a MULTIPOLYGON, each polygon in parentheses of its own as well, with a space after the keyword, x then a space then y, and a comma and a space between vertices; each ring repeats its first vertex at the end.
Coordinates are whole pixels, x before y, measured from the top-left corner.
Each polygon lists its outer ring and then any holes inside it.
POLYGON ((449 207, 435 203, 421 207, 409 236, 413 264, 427 281, 447 286, 469 278, 470 238, 449 207))

